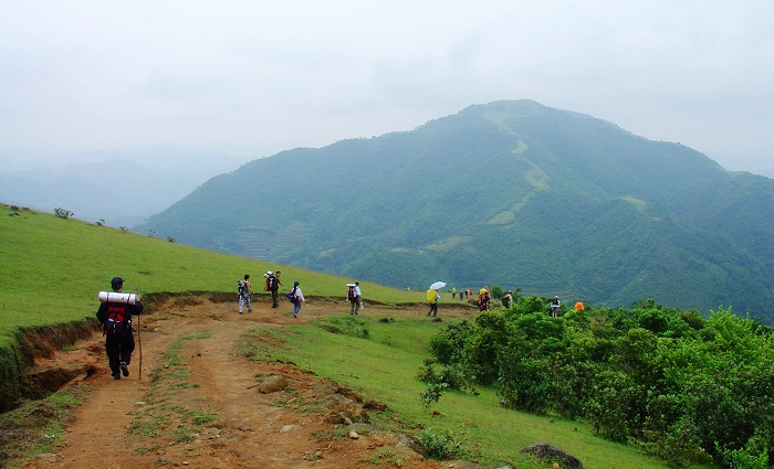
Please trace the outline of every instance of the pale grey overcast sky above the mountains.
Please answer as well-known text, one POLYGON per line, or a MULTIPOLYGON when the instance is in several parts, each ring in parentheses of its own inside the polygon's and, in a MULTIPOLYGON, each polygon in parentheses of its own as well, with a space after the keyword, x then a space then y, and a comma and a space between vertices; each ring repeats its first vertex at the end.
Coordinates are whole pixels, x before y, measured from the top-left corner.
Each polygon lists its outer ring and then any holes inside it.
POLYGON ((774 1, 0 0, 0 163, 244 161, 535 99, 774 178, 774 1))

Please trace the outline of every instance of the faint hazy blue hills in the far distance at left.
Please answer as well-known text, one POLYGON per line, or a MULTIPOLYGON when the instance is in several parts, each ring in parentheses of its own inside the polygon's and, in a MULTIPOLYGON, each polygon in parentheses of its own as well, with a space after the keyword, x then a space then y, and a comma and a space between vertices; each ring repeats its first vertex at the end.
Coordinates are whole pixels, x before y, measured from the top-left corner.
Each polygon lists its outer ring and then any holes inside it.
POLYGON ((180 149, 106 150, 67 158, 92 162, 0 170, 0 200, 50 213, 63 207, 80 220, 102 218, 111 226, 130 227, 167 209, 213 174, 239 166, 238 160, 222 154, 180 149))

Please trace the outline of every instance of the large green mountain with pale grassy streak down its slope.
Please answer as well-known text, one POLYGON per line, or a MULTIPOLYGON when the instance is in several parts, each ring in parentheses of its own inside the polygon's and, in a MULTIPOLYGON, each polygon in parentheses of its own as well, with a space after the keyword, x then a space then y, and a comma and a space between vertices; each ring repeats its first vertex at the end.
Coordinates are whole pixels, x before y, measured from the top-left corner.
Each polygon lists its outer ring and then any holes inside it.
POLYGON ((255 160, 140 230, 396 287, 774 319, 774 180, 532 100, 255 160))

